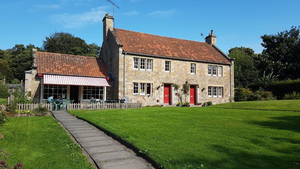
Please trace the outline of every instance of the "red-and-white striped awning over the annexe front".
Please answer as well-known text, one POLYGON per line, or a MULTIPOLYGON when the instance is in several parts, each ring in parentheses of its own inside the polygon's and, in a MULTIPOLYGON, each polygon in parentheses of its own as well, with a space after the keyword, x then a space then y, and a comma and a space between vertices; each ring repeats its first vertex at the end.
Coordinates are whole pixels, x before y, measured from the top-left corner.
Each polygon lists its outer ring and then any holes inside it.
POLYGON ((84 76, 65 76, 44 74, 43 84, 62 84, 78 86, 110 86, 106 78, 84 77, 84 76))

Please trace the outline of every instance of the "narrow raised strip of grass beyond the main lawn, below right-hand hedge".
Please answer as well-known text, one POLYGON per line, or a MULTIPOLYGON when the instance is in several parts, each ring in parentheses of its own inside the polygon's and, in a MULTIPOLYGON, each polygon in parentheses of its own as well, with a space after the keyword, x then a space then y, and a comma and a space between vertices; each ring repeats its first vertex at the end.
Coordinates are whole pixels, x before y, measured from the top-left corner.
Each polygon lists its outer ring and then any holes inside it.
POLYGON ((214 108, 226 109, 250 109, 250 110, 281 110, 300 111, 300 100, 268 100, 222 103, 212 105, 214 108))

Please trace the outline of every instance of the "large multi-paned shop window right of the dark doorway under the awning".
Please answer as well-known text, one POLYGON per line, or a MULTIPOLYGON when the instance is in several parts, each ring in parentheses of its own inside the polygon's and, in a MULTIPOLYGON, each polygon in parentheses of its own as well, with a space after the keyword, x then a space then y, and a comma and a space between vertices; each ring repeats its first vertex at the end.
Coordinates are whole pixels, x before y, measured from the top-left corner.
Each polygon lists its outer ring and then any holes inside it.
POLYGON ((83 86, 83 100, 103 99, 104 87, 101 86, 83 86))

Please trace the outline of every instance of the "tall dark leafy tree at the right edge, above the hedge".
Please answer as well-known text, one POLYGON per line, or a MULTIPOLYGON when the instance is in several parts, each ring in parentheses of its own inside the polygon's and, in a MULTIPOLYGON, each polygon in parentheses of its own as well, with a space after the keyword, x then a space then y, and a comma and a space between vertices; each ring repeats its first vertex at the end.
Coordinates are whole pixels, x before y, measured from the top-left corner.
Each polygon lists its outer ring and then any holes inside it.
POLYGON ((278 79, 300 78, 300 26, 277 35, 263 35, 261 45, 265 48, 256 58, 256 66, 262 74, 274 72, 278 79))

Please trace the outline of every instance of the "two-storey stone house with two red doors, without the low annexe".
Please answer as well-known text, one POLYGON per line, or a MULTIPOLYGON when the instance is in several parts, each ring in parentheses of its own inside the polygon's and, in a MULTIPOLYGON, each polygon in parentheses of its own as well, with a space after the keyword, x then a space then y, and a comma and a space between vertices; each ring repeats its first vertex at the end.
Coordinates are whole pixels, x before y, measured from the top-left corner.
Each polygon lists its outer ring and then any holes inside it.
POLYGON ((234 95, 234 59, 216 46, 211 33, 205 42, 183 40, 113 28, 103 18, 102 58, 110 73, 107 98, 129 97, 143 105, 176 105, 173 84, 189 79, 191 104, 229 102, 234 95))

